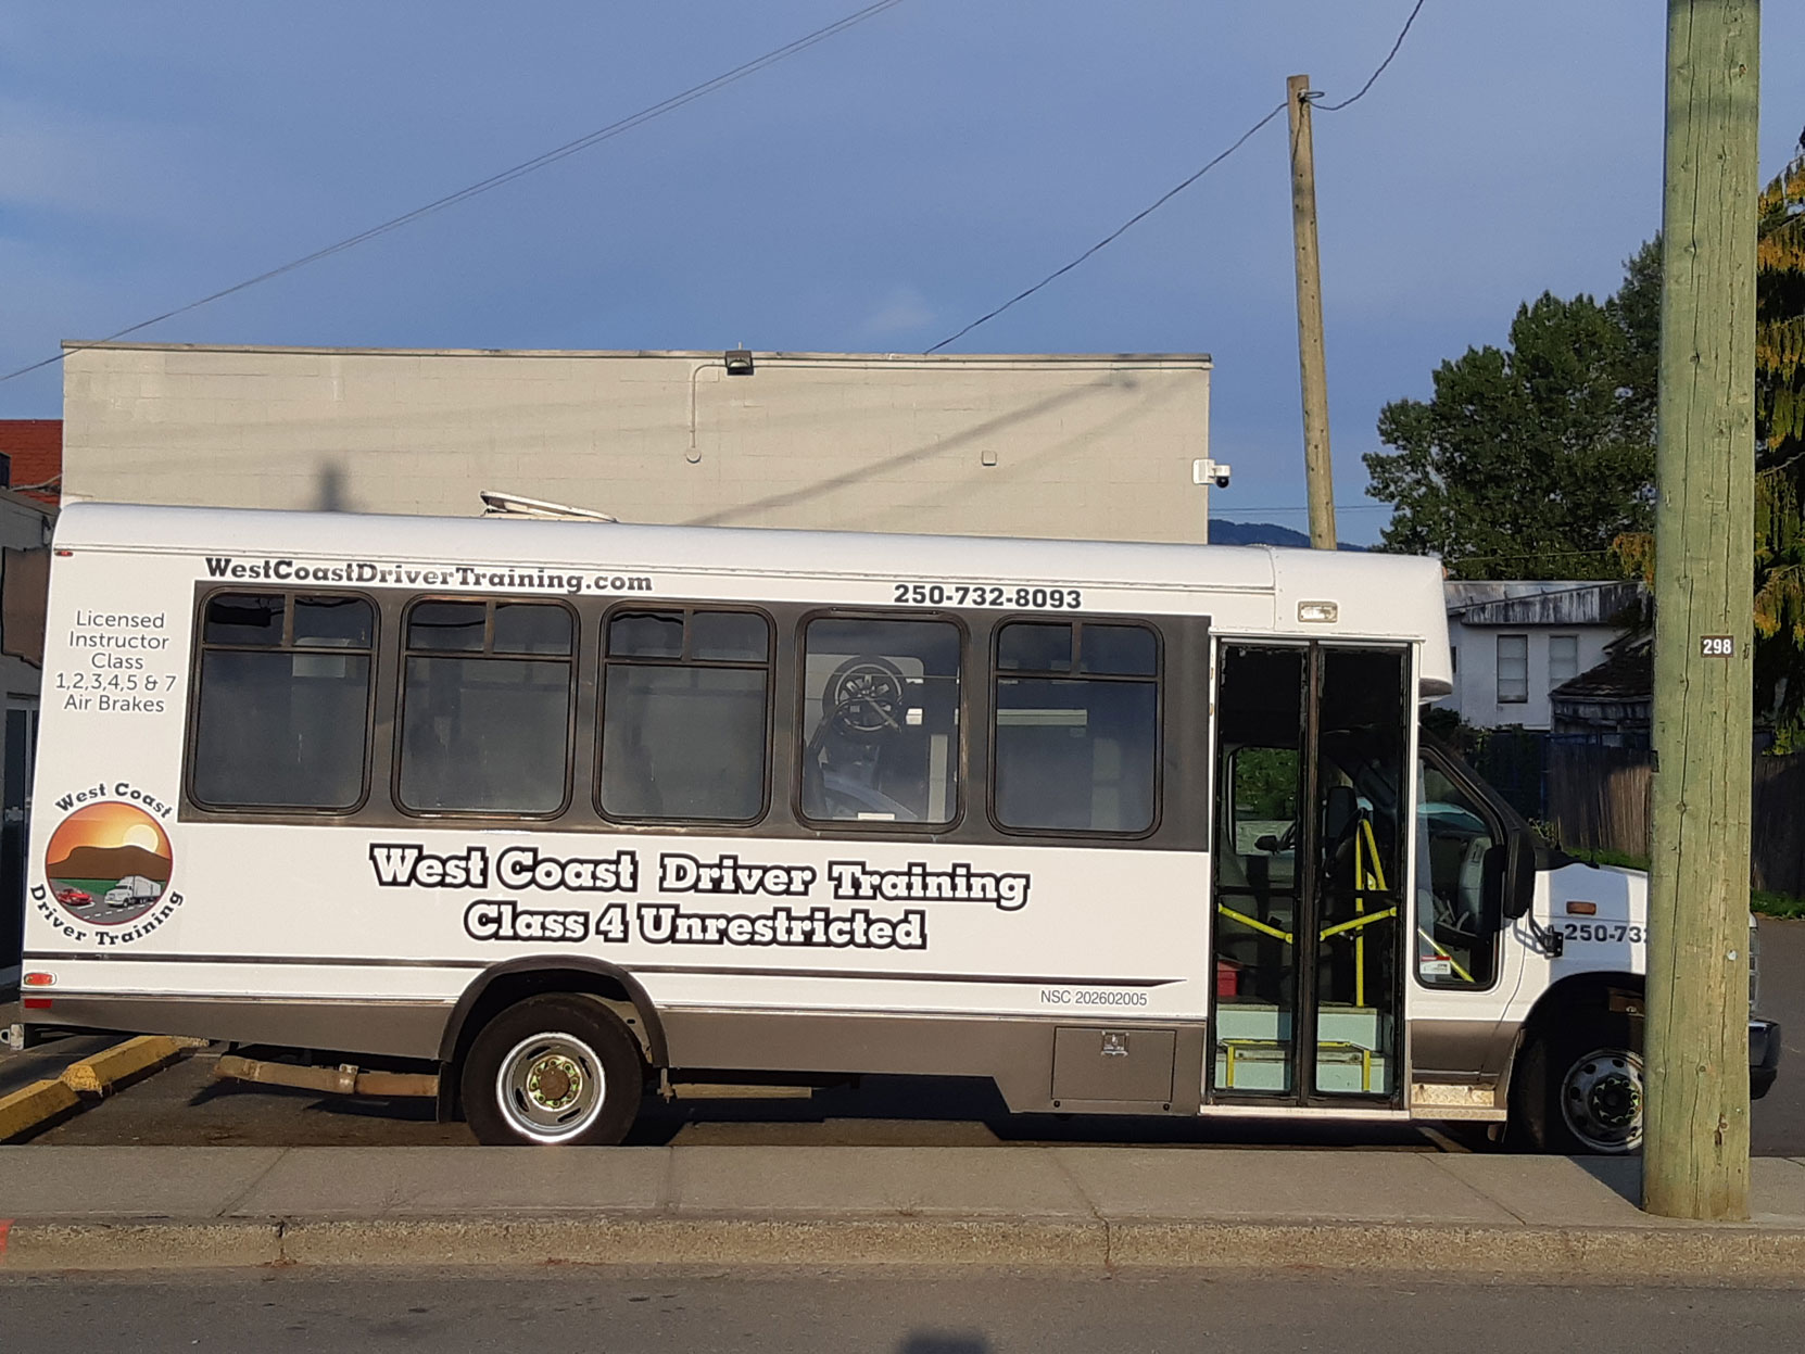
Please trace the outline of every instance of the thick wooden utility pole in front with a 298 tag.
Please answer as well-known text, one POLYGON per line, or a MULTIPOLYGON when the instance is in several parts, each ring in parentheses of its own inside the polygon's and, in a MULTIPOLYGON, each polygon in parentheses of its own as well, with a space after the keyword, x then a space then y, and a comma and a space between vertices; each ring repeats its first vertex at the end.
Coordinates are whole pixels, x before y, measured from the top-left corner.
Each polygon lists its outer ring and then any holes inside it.
POLYGON ((1749 1215, 1758 0, 1668 0, 1643 1208, 1749 1215))

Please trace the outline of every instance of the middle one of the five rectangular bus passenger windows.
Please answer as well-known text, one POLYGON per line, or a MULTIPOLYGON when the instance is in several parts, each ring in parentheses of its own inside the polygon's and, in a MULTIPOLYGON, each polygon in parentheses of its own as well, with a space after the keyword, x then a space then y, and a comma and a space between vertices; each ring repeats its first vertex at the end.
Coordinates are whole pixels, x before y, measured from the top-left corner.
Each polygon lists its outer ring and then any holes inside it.
POLYGON ((731 610, 616 612, 603 664, 601 812, 754 821, 765 805, 771 621, 731 610))

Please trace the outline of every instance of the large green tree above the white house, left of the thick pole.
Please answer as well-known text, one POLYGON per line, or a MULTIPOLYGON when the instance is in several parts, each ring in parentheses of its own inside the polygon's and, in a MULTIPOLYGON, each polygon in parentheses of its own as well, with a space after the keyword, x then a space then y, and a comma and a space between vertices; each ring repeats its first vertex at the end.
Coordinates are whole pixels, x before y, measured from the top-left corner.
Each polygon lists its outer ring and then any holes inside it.
POLYGON ((1393 505, 1381 549, 1455 578, 1621 578, 1615 538, 1653 507, 1661 255, 1643 246, 1605 303, 1543 292, 1504 348, 1467 348, 1428 401, 1379 413, 1365 457, 1393 505))

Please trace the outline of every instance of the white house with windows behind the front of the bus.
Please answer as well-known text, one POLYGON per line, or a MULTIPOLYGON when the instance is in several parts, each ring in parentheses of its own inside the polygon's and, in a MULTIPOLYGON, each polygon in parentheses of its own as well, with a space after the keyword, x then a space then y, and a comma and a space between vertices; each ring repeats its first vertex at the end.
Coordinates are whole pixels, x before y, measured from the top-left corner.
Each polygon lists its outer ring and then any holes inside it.
POLYGON ((1437 702, 1484 729, 1552 729, 1549 691, 1605 661, 1650 605, 1628 581, 1444 583, 1453 695, 1437 702))

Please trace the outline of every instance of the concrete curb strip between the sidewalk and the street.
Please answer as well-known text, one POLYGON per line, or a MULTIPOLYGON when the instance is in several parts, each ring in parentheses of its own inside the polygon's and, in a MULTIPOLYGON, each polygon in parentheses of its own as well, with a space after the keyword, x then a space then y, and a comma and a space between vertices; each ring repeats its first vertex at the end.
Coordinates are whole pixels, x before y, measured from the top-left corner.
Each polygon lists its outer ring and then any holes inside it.
POLYGON ((244 1266, 1049 1267, 1805 1284, 1805 1229, 1108 1222, 1101 1219, 475 1217, 0 1222, 0 1271, 244 1266))

